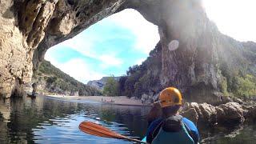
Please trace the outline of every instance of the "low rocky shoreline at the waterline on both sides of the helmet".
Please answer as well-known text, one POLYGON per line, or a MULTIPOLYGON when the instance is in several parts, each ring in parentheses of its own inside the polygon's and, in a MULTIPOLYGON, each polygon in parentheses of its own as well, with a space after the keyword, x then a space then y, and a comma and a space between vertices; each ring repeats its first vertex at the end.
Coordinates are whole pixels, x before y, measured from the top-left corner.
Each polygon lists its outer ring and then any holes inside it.
MULTIPOLYGON (((256 97, 234 98, 218 95, 213 103, 185 102, 181 114, 191 121, 202 126, 235 126, 246 121, 256 120, 256 97)), ((143 104, 157 101, 158 94, 142 94, 143 104)), ((156 106, 154 113, 161 113, 156 106)))

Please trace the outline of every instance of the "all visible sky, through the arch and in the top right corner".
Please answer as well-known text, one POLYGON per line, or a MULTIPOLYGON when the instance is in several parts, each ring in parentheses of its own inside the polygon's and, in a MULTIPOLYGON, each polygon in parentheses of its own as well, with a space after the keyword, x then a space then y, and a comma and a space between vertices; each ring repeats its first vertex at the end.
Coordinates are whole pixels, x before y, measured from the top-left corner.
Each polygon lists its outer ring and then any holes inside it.
MULTIPOLYGON (((218 29, 238 41, 256 42, 256 0, 202 0, 218 29)), ((141 64, 159 41, 158 27, 136 10, 123 10, 53 46, 46 60, 80 82, 121 76, 141 64)))

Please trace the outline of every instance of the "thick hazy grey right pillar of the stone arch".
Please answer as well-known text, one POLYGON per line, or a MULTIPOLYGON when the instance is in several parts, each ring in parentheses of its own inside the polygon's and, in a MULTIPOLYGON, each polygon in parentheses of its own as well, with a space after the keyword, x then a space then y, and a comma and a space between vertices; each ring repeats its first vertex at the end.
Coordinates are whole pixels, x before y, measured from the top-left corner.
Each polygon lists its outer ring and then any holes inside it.
MULTIPOLYGON (((162 87, 176 86, 199 102, 218 91, 218 29, 206 16, 201 0, 126 1, 122 7, 138 10, 158 26, 162 44, 162 87), (168 50, 178 40, 179 48, 168 50), (199 87, 199 89, 198 89, 199 87), (200 88, 201 87, 201 88, 200 88)), ((220 47, 221 48, 221 47, 220 47)))

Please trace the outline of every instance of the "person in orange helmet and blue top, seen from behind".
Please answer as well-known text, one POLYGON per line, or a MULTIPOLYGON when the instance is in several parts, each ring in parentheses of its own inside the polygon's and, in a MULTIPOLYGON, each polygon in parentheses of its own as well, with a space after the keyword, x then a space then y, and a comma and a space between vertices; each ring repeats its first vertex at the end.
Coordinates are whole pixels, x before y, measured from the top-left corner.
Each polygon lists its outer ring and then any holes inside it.
POLYGON ((152 144, 181 143, 194 144, 199 142, 198 129, 187 118, 178 114, 182 106, 182 94, 174 87, 162 90, 159 95, 162 118, 150 123, 146 133, 146 142, 152 144))

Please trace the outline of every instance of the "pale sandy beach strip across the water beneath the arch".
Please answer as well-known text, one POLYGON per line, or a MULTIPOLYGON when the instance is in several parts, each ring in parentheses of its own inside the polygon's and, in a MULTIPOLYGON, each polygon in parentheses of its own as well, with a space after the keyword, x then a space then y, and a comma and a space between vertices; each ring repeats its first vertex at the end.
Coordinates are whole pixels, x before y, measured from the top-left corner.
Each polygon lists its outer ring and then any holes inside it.
MULTIPOLYGON (((105 104, 124 105, 124 106, 146 106, 141 100, 130 99, 126 96, 106 97, 106 96, 66 96, 66 95, 46 95, 47 97, 79 100, 82 102, 102 102, 105 104)), ((148 105, 147 105, 148 106, 148 105)))

